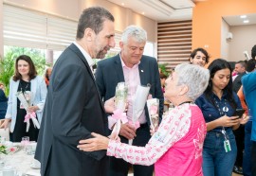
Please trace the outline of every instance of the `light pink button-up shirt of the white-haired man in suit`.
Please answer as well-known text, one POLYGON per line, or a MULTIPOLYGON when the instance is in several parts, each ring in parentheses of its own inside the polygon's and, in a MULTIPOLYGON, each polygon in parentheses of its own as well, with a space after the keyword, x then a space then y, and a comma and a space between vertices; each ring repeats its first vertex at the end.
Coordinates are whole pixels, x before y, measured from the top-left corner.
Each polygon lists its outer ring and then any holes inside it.
MULTIPOLYGON (((120 59, 121 59, 121 55, 120 59)), ((121 61, 122 70, 123 70, 123 76, 125 83, 128 84, 128 110, 127 110, 127 118, 129 120, 132 120, 133 116, 133 99, 135 97, 136 91, 137 91, 137 85, 140 85, 140 78, 139 78, 139 72, 138 72, 138 62, 135 64, 132 68, 127 67, 125 63, 121 61)), ((140 124, 144 124, 147 122, 145 111, 140 115, 138 118, 138 121, 140 124)))

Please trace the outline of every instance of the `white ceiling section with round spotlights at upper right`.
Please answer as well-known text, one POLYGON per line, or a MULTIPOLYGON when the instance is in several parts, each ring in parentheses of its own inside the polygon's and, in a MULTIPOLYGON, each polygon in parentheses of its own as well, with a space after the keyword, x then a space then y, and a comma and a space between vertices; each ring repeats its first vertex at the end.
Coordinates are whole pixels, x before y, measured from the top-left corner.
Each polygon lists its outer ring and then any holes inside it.
POLYGON ((256 24, 256 14, 241 14, 235 16, 224 16, 223 19, 229 24, 229 26, 243 26, 243 25, 255 25, 256 24), (247 15, 247 18, 242 19, 241 15, 247 15), (248 20, 249 23, 245 24, 243 21, 248 20))

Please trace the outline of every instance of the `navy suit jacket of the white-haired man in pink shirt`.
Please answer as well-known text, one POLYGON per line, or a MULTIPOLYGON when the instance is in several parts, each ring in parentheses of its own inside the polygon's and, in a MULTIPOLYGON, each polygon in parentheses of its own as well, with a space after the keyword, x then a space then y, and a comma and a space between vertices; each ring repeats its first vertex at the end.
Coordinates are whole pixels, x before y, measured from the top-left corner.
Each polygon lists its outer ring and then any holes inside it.
MULTIPOLYGON (((151 84, 150 94, 152 97, 159 99, 159 114, 161 117, 163 114, 164 98, 155 58, 143 55, 138 65, 138 70, 141 85, 151 84)), ((115 96, 116 86, 121 81, 124 81, 124 76, 119 54, 113 58, 109 58, 97 63, 96 82, 101 92, 101 97, 104 101, 115 96)), ((147 121, 150 125, 149 115, 146 107, 145 110, 147 121)))

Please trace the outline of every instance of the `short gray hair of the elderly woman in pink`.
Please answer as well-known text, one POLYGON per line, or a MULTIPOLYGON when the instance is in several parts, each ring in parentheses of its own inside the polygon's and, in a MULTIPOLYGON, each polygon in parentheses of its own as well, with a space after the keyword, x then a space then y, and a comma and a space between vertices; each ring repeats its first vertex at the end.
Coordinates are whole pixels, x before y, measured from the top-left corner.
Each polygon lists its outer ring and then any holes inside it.
POLYGON ((187 96, 193 101, 206 90, 210 79, 208 69, 195 64, 181 63, 174 71, 178 76, 177 85, 187 85, 189 87, 187 96))

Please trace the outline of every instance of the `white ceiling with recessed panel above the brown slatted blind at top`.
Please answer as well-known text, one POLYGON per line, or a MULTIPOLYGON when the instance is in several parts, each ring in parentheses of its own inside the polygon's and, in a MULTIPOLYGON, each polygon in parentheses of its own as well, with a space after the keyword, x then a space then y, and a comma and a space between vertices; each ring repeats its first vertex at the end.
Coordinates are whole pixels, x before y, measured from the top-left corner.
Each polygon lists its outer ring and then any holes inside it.
POLYGON ((192 0, 108 0, 157 22, 192 19, 192 0))

